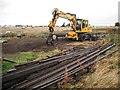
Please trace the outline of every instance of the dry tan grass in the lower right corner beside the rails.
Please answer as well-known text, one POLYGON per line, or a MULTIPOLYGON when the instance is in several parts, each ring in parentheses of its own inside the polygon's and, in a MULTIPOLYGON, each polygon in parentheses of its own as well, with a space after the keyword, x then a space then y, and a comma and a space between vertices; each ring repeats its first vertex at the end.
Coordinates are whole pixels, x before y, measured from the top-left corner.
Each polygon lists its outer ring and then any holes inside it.
POLYGON ((105 58, 95 65, 96 71, 87 74, 84 83, 79 83, 83 88, 116 88, 118 85, 118 53, 105 58))

